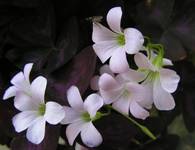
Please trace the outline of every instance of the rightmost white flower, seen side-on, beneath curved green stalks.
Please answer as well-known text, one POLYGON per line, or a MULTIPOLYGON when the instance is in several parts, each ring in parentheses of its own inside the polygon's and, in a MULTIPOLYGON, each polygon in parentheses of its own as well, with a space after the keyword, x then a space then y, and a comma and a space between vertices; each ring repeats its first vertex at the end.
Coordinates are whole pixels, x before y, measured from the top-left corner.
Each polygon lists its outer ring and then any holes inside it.
POLYGON ((170 93, 175 92, 178 86, 180 77, 175 71, 162 68, 165 65, 172 65, 168 59, 162 59, 162 64, 159 65, 160 59, 155 55, 149 60, 144 54, 138 53, 135 55, 135 63, 140 70, 146 74, 147 78, 143 85, 151 93, 148 97, 154 101, 154 105, 159 110, 171 110, 175 107, 175 101, 170 93))

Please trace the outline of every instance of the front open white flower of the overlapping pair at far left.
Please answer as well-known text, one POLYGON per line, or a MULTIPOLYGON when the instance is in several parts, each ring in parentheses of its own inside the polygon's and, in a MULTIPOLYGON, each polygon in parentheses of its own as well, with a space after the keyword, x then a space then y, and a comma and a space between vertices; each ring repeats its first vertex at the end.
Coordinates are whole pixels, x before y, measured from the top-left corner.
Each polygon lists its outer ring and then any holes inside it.
POLYGON ((64 109, 56 102, 44 102, 47 80, 39 76, 30 85, 31 95, 20 92, 17 95, 18 109, 22 112, 16 114, 12 123, 16 132, 27 129, 27 139, 39 144, 45 136, 46 122, 58 124, 65 116, 64 109))

